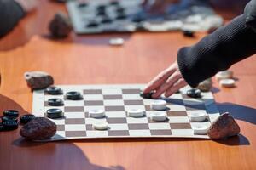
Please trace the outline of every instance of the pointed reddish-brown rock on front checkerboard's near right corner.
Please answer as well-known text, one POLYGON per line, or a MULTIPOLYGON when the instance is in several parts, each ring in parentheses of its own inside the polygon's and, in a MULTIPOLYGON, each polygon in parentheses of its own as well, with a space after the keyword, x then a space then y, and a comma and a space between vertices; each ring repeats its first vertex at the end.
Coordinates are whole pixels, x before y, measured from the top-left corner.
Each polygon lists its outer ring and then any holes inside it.
POLYGON ((223 139, 238 133, 240 133, 240 127, 229 113, 224 113, 212 122, 207 132, 211 139, 223 139))

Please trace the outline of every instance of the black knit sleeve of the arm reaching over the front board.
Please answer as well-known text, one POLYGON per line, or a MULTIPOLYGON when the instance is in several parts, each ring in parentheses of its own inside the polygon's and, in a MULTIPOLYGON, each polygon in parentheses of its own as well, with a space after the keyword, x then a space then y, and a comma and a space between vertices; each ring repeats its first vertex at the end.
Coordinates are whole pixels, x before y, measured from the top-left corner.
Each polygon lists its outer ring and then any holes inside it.
POLYGON ((241 14, 194 46, 178 51, 179 69, 190 86, 196 87, 218 71, 256 53, 256 32, 246 18, 246 14, 241 14))

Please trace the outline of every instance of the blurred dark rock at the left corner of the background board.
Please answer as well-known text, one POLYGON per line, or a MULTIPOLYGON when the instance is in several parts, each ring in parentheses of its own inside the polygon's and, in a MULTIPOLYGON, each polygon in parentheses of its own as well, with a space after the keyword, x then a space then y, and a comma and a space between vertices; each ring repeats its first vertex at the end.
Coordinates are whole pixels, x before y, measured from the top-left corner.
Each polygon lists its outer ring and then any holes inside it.
POLYGON ((71 31, 71 21, 66 14, 58 12, 55 14, 53 20, 49 22, 49 32, 52 37, 67 37, 71 31))

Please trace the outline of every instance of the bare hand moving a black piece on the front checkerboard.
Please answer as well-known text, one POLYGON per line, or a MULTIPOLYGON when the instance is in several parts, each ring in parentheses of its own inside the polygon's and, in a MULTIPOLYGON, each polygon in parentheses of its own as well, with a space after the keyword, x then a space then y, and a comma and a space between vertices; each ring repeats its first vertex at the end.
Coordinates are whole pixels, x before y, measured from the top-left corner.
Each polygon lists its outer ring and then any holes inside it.
POLYGON ((169 97, 187 84, 188 83, 184 80, 179 71, 176 61, 166 70, 160 72, 158 76, 154 77, 154 79, 148 83, 147 88, 143 90, 143 93, 147 94, 151 91, 155 91, 155 93, 152 94, 152 98, 154 99, 160 98, 160 95, 164 93, 166 97, 169 97))

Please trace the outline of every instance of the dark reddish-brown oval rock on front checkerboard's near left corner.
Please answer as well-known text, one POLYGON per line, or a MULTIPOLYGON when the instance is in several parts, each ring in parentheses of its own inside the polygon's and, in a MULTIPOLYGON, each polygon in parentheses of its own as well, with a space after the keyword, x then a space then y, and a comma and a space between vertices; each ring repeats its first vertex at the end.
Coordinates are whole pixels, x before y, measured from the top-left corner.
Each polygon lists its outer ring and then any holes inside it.
POLYGON ((55 122, 45 117, 35 117, 20 129, 20 135, 28 140, 42 140, 54 136, 56 130, 55 122))

